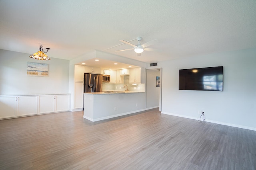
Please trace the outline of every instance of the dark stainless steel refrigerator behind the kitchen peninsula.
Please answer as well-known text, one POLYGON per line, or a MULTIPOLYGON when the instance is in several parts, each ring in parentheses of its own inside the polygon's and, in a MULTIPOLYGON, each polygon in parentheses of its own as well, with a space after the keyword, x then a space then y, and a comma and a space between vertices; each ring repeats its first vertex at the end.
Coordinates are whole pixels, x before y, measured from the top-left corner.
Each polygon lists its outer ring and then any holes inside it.
POLYGON ((102 92, 102 75, 84 73, 84 93, 102 92))

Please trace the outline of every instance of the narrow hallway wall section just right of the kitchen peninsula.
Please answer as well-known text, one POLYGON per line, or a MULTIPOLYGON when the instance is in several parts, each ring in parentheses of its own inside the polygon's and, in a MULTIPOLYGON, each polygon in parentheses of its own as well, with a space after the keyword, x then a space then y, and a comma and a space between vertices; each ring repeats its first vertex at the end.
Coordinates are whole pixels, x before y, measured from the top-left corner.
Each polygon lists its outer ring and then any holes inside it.
MULTIPOLYGON (((160 70, 147 70, 146 107, 159 107, 160 87, 156 87, 156 76, 160 76, 160 70)), ((160 80, 162 78, 160 77, 160 80)), ((161 85, 161 84, 160 84, 161 85)))

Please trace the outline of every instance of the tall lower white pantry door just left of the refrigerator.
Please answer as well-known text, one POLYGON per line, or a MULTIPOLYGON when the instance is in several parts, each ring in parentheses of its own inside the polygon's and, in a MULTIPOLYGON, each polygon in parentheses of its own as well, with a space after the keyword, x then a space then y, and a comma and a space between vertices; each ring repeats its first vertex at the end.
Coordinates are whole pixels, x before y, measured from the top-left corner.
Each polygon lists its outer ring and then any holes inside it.
POLYGON ((84 107, 84 83, 74 82, 74 109, 84 107))

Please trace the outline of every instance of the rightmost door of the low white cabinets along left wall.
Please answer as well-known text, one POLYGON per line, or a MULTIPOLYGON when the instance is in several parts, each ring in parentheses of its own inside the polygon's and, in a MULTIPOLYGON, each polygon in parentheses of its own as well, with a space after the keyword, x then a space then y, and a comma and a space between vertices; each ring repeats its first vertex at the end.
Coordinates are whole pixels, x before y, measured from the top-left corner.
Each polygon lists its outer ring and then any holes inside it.
POLYGON ((70 111, 70 95, 55 95, 55 111, 70 111))

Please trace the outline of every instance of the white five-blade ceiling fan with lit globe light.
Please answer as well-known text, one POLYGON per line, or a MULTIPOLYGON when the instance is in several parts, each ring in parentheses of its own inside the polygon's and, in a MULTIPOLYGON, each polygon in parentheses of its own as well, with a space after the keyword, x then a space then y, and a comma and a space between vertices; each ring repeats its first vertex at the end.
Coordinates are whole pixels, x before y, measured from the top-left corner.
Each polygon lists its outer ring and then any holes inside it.
POLYGON ((125 44, 128 44, 132 47, 134 47, 133 49, 124 49, 124 50, 118 50, 118 51, 127 51, 127 50, 134 50, 137 55, 140 55, 144 50, 145 51, 158 51, 157 49, 150 49, 150 48, 146 48, 150 45, 153 45, 155 43, 156 40, 152 40, 152 41, 148 41, 147 43, 144 43, 144 44, 140 44, 140 40, 142 39, 142 37, 138 37, 137 40, 138 40, 138 44, 137 45, 134 45, 132 43, 129 43, 127 41, 124 41, 124 40, 120 40, 121 42, 125 43, 125 44))

